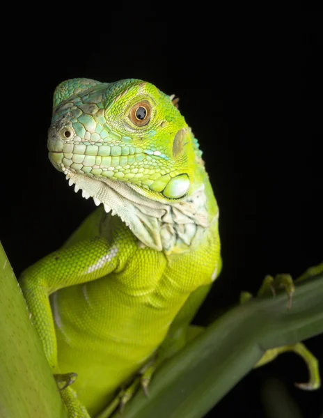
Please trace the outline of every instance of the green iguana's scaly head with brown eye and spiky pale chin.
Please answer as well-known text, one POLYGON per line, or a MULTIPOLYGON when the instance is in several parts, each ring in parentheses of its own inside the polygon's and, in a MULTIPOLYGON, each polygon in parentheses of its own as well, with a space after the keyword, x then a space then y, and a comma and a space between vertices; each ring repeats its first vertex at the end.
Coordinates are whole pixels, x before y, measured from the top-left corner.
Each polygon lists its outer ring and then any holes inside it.
MULTIPOLYGON (((61 83, 47 145, 75 191, 118 214, 146 245, 158 229, 152 219, 203 186, 194 178, 196 142, 173 98, 138 79, 61 83)), ((158 240, 149 246, 161 249, 158 240)))

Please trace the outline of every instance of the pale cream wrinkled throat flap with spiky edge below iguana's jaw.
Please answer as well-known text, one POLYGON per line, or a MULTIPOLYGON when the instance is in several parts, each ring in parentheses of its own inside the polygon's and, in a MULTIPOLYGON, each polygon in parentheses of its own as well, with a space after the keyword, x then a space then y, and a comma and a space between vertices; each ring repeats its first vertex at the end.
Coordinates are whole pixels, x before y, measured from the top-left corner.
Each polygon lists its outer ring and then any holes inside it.
POLYGON ((76 192, 82 189, 83 197, 93 197, 97 206, 103 203, 106 212, 118 215, 143 247, 167 254, 188 251, 200 242, 213 220, 203 182, 189 196, 168 203, 148 199, 139 187, 120 181, 97 180, 71 171, 65 174, 76 192))

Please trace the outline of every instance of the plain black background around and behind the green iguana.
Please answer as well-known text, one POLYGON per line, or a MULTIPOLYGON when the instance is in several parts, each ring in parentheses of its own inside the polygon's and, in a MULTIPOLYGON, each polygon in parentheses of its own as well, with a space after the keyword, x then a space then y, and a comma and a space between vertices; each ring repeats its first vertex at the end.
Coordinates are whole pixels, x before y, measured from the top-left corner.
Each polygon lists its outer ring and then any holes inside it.
MULTIPOLYGON (((198 321, 235 304, 241 290, 255 293, 265 274, 297 277, 320 263, 322 15, 259 13, 255 22, 224 19, 215 6, 188 15, 148 2, 98 6, 77 19, 58 10, 55 24, 52 11, 24 19, 20 10, 6 33, 1 242, 16 274, 59 247, 94 208, 47 159, 52 94, 72 77, 134 77, 180 97, 221 213, 224 268, 198 321)), ((321 364, 322 338, 306 342, 321 364)), ((304 417, 319 417, 322 389, 293 387, 307 373, 292 354, 249 373, 208 416, 265 417, 261 394, 271 378, 304 417)))

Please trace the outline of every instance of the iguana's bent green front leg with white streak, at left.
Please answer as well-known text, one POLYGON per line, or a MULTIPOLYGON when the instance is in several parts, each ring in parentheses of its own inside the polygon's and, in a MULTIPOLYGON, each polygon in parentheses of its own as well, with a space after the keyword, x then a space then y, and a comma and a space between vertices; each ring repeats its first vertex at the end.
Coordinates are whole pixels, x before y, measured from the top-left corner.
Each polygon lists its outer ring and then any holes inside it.
MULTIPOLYGON (((20 286, 53 373, 59 373, 54 327, 54 316, 58 313, 53 316, 49 295, 103 277, 113 272, 118 263, 118 248, 105 238, 95 237, 54 251, 22 273, 20 286)), ((57 378, 61 380, 60 376, 57 378)), ((70 417, 87 416, 74 391, 67 387, 61 390, 61 395, 70 417)))

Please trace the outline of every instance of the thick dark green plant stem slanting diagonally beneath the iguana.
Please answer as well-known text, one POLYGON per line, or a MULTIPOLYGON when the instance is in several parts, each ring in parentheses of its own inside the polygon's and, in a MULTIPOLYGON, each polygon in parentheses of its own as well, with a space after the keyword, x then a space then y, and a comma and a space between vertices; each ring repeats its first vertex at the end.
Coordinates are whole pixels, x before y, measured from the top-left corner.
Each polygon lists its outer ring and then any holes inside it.
MULTIPOLYGON (((304 341, 323 332, 323 273, 299 282, 287 295, 257 297, 224 314, 166 362, 138 392, 127 418, 200 418, 232 389, 269 348, 304 341)), ((121 417, 116 411, 114 418, 121 417)))

